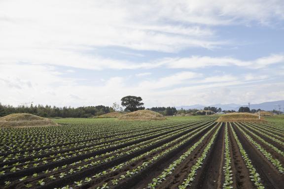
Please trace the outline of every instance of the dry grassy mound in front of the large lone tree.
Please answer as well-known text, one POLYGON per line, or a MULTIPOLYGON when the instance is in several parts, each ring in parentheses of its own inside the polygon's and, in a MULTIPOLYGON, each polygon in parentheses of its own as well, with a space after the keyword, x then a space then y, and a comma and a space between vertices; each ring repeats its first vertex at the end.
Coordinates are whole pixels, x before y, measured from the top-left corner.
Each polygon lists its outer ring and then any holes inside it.
POLYGON ((140 120, 140 121, 150 121, 150 120, 166 120, 166 118, 150 110, 138 110, 128 114, 121 115, 118 120, 140 120))

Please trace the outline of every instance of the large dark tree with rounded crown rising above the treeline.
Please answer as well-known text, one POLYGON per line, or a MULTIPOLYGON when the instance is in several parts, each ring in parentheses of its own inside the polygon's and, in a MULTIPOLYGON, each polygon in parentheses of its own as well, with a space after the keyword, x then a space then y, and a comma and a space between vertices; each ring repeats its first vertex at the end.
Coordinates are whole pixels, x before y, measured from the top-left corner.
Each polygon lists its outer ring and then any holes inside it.
POLYGON ((140 96, 124 96, 121 98, 121 105, 125 106, 125 111, 137 111, 145 109, 142 107, 144 105, 142 98, 140 96))

